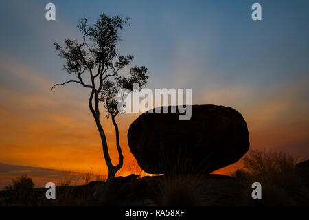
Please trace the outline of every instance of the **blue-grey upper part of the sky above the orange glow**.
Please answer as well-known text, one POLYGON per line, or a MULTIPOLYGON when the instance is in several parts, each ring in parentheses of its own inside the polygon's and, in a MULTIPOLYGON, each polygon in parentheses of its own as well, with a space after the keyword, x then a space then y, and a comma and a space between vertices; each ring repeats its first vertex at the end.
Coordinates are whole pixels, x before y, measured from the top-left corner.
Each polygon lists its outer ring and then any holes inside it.
POLYGON ((164 86, 175 83, 177 76, 169 75, 183 63, 194 72, 191 85, 212 76, 268 87, 308 70, 308 1, 259 1, 262 21, 251 19, 255 1, 52 1, 56 22, 45 21, 48 2, 1 1, 1 52, 59 72, 52 43, 77 38, 79 17, 106 12, 131 18, 120 48, 155 80, 168 78, 164 86))

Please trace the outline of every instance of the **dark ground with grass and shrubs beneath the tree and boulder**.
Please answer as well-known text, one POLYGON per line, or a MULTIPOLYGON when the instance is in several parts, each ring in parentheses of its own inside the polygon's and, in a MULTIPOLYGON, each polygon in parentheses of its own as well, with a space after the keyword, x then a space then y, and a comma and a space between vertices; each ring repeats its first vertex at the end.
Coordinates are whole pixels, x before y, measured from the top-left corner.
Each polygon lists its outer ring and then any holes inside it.
POLYGON ((1 206, 309 206, 309 161, 293 164, 279 153, 253 152, 244 157, 246 170, 225 175, 130 175, 112 186, 91 181, 83 186, 0 192, 1 206), (262 199, 252 199, 253 182, 262 185, 262 199))

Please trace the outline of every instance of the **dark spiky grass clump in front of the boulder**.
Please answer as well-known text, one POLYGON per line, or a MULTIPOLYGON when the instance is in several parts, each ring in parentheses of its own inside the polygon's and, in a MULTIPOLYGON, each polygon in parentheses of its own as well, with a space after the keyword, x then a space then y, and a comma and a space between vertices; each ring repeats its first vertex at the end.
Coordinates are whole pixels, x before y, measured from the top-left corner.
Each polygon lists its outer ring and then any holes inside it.
POLYGON ((207 206, 207 192, 211 184, 205 181, 205 173, 196 173, 196 167, 192 166, 192 148, 188 151, 186 146, 179 146, 177 152, 162 151, 160 166, 165 170, 165 175, 160 185, 161 206, 207 206))

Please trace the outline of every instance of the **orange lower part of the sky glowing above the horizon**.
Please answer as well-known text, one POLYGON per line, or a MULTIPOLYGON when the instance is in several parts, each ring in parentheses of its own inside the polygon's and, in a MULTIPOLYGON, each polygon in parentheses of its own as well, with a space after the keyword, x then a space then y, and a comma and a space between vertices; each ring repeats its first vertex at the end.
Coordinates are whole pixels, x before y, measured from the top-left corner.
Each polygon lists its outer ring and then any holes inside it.
MULTIPOLYGON (((41 74, 10 59, 5 62, 5 69, 21 78, 24 85, 34 91, 0 87, 0 162, 106 175, 100 135, 87 107, 87 91, 78 86, 58 87, 50 91, 53 80, 43 78, 41 74)), ((198 103, 194 104, 223 104, 240 111, 248 124, 251 148, 280 148, 296 144, 293 145, 293 153, 309 155, 308 149, 304 152, 304 148, 297 145, 308 140, 308 112, 297 104, 301 103, 299 100, 290 98, 304 91, 307 83, 307 79, 299 80, 282 94, 274 96, 269 93, 268 97, 254 102, 247 100, 245 105, 242 100, 227 99, 244 94, 241 88, 235 89, 235 92, 229 89, 230 96, 222 95, 227 94, 222 89, 211 91, 209 96, 203 94, 204 99, 196 97, 198 103), (293 111, 297 114, 291 118, 289 115, 293 111)), ((244 89, 244 92, 255 91, 244 89)), ((130 153, 126 137, 128 127, 138 115, 126 113, 117 117, 124 153, 122 174, 141 172, 130 153)), ((115 164, 118 159, 115 130, 111 120, 104 116, 102 123, 115 164)), ((215 173, 229 174, 240 167, 237 163, 215 173)))

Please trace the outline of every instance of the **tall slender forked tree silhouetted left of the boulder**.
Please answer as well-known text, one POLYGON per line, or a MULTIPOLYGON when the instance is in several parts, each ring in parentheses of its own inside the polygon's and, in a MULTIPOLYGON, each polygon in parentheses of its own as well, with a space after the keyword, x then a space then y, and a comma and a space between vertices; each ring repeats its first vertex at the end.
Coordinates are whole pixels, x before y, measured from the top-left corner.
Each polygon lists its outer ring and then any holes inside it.
POLYGON ((117 15, 109 17, 103 13, 92 26, 87 23, 87 18, 82 18, 78 23, 78 30, 82 33, 82 43, 73 39, 66 39, 63 47, 54 43, 56 52, 66 61, 64 69, 69 74, 76 75, 77 79, 56 84, 52 89, 57 85, 78 83, 90 90, 89 109, 102 140, 104 159, 108 167, 107 184, 111 184, 115 179, 115 173, 122 168, 124 160, 119 144, 119 129, 115 122, 115 117, 119 115, 116 95, 122 88, 133 91, 133 83, 138 83, 141 88, 148 80, 146 75, 148 69, 144 66, 131 67, 127 77, 119 76, 119 71, 133 61, 133 56, 120 56, 117 50, 117 44, 121 40, 119 30, 122 30, 124 25, 129 25, 128 18, 117 15), (100 121, 99 102, 103 102, 107 112, 106 116, 111 118, 115 126, 116 146, 119 154, 119 162, 115 166, 108 153, 106 135, 100 121))

